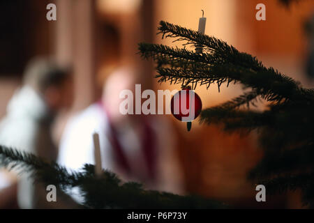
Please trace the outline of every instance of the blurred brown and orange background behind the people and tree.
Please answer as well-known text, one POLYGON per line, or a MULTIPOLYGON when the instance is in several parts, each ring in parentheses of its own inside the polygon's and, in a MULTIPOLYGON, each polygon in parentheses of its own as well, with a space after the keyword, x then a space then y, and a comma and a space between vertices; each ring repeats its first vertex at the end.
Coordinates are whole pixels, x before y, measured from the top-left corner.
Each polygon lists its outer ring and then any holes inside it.
MULTIPOLYGON (((299 1, 287 8, 278 1, 256 0, 2 0, 0 1, 0 117, 20 86, 27 62, 38 55, 52 55, 59 63, 73 65, 75 103, 71 112, 84 109, 100 95, 110 66, 136 66, 142 73, 142 89, 179 89, 179 85, 159 85, 154 65, 143 61, 137 43, 172 40, 156 36, 158 22, 165 20, 197 29, 198 19, 207 17, 205 33, 221 38, 243 52, 257 56, 265 66, 273 66, 313 87, 306 73, 311 39, 304 26, 314 13, 314 1, 299 1), (57 5, 57 21, 46 20, 48 3, 57 5), (266 21, 255 20, 255 6, 264 3, 266 21)), ((142 90, 143 91, 143 90, 142 90)), ((216 86, 209 91, 198 87, 203 108, 217 105, 241 92, 241 87, 216 86)), ((70 113, 61 114, 54 128, 58 142, 70 113)), ((186 132, 184 123, 167 116, 177 137, 176 151, 184 174, 186 192, 226 201, 237 207, 301 208, 299 192, 255 201, 255 187, 247 172, 261 157, 256 138, 227 134, 219 126, 193 123, 186 132)), ((170 136, 171 137, 171 136, 170 136)), ((0 171, 0 208, 15 207, 6 199, 8 185, 15 176, 0 171)))

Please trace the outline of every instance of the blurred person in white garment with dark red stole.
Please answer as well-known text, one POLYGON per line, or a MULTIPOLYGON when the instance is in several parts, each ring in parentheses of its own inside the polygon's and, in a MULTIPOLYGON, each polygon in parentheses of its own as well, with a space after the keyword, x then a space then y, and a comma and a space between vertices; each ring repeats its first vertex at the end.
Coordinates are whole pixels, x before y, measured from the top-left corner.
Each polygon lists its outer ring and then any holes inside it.
MULTIPOLYGON (((68 121, 61 137, 58 162, 73 170, 94 164, 92 135, 100 136, 103 169, 122 180, 136 180, 149 189, 182 192, 182 176, 174 153, 175 135, 164 116, 123 115, 119 112, 124 89, 135 89, 130 68, 112 72, 101 100, 68 121)), ((81 202, 78 191, 73 197, 81 202)))

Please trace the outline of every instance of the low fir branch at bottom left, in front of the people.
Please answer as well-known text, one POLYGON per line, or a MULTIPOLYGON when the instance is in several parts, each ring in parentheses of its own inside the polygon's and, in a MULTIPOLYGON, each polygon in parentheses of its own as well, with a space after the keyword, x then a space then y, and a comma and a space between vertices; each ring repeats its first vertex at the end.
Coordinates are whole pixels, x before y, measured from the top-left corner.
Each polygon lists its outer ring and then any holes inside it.
POLYGON ((86 208, 225 208, 223 203, 197 196, 144 190, 140 183, 122 183, 110 171, 96 176, 94 165, 85 164, 81 172, 68 171, 35 155, 0 146, 0 164, 21 173, 33 172, 36 180, 58 185, 64 192, 79 187, 86 208))

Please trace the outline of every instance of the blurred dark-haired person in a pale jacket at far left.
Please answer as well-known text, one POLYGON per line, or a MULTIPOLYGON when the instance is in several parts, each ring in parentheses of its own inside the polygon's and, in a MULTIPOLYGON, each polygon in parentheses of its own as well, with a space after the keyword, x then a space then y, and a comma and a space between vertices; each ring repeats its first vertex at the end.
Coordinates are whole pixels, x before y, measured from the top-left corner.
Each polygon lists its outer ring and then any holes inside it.
MULTIPOLYGON (((24 72, 23 85, 17 89, 0 123, 0 144, 38 155, 46 160, 57 159, 52 141, 54 117, 73 101, 70 70, 57 66, 50 59, 38 58, 24 72)), ((48 202, 43 183, 33 183, 29 176, 17 182, 20 208, 61 207, 61 202, 48 202), (53 204, 52 204, 53 203, 53 204)))

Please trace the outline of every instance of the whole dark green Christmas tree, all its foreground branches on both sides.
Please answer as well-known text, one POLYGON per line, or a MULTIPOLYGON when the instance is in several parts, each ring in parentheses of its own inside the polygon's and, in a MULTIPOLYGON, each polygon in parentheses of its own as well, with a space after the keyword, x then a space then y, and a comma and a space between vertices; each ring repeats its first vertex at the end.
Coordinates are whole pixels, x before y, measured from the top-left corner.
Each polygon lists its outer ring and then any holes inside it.
MULTIPOLYGON (((222 40, 161 21, 163 38, 202 49, 195 53, 166 45, 140 43, 140 54, 156 61, 158 82, 191 86, 241 84, 244 93, 216 107, 204 109, 200 122, 223 123, 226 131, 257 130, 264 157, 248 177, 263 184, 267 192, 300 188, 303 201, 314 206, 313 114, 314 89, 304 89, 294 79, 274 68, 266 68, 254 56, 239 52, 222 40), (267 109, 252 109, 258 100, 267 109)), ((29 171, 36 180, 58 185, 67 191, 79 187, 87 208, 222 208, 223 204, 194 196, 144 190, 139 183, 121 183, 115 174, 96 176, 94 166, 82 172, 68 171, 57 163, 0 146, 0 163, 9 169, 29 171)))

